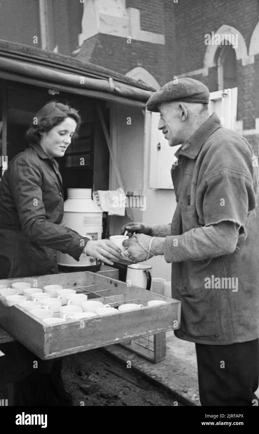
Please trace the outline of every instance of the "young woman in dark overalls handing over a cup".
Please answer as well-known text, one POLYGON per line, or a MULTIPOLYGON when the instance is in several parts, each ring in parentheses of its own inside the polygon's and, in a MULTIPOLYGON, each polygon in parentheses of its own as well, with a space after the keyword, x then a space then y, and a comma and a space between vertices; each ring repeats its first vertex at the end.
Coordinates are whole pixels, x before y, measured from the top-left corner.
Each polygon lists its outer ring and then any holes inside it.
MULTIPOLYGON (((52 101, 33 119, 26 149, 10 161, 0 186, 0 279, 57 273, 57 250, 76 260, 86 253, 113 265, 121 255, 110 240, 89 240, 61 225, 62 178, 54 158, 62 157, 76 136, 80 115, 52 101)), ((9 405, 71 405, 62 384, 62 359, 43 362, 19 342, 0 349, 5 354, 0 372, 12 383, 9 405)))

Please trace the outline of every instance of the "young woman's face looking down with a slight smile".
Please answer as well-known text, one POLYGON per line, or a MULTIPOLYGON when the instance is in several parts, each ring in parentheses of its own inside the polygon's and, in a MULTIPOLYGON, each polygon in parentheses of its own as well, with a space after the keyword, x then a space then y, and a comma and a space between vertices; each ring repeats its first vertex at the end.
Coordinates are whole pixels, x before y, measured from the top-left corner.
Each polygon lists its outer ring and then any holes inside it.
POLYGON ((50 131, 40 133, 39 144, 49 158, 63 157, 71 143, 76 127, 77 123, 73 118, 65 118, 61 124, 56 125, 50 131))

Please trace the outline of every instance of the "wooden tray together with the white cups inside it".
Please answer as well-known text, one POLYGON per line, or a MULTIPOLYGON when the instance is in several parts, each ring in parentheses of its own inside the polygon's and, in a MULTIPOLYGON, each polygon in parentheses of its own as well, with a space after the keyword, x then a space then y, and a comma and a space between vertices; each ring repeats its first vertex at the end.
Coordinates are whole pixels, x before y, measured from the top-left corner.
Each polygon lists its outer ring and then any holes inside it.
POLYGON ((0 325, 43 360, 180 327, 178 300, 97 273, 0 280, 0 285, 6 286, 0 286, 0 325), (8 288, 18 294, 1 294, 8 288))

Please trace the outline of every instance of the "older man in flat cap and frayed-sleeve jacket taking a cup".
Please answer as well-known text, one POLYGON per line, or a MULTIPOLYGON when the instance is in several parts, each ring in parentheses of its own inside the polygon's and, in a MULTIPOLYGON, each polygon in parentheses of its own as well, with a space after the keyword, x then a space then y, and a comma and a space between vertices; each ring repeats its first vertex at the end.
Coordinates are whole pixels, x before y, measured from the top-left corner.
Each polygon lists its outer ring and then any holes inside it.
POLYGON ((258 405, 259 212, 257 159, 240 135, 208 113, 197 80, 169 82, 147 109, 180 145, 172 167, 176 210, 171 226, 130 223, 123 242, 134 262, 164 255, 172 297, 181 301, 179 339, 195 342, 202 405, 258 405), (257 199, 258 200, 258 199, 257 199))

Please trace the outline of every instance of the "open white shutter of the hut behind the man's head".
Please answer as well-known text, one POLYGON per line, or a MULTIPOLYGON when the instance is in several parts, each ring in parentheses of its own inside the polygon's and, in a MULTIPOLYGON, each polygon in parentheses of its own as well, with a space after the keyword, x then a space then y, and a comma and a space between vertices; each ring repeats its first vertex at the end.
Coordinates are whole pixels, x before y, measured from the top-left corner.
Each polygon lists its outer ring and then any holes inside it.
MULTIPOLYGON (((236 129, 237 88, 210 93, 209 114, 216 112, 226 128, 236 129)), ((181 145, 169 146, 162 131, 158 130, 159 113, 147 112, 146 128, 149 128, 150 176, 149 188, 172 190, 171 167, 175 152, 181 145), (151 117, 151 118, 150 118, 151 117)))

